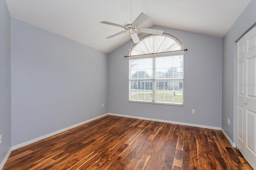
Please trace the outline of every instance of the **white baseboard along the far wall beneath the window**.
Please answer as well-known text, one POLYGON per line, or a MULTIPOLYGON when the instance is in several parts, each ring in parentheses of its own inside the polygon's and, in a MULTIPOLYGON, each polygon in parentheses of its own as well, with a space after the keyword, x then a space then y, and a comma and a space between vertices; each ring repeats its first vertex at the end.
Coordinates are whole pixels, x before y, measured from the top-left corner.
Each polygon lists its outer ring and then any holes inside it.
POLYGON ((214 127, 214 126, 183 123, 183 122, 178 122, 178 121, 168 121, 168 120, 162 120, 162 119, 152 119, 152 118, 147 118, 147 117, 137 117, 137 116, 130 116, 130 115, 120 115, 120 114, 115 114, 115 113, 108 113, 108 114, 114 115, 114 116, 135 118, 135 119, 144 119, 144 120, 150 120, 150 121, 160 121, 160 122, 164 122, 164 123, 173 123, 173 124, 177 124, 177 125, 186 125, 186 126, 194 126, 194 127, 202 127, 202 128, 207 128, 207 129, 221 130, 221 127, 214 127))

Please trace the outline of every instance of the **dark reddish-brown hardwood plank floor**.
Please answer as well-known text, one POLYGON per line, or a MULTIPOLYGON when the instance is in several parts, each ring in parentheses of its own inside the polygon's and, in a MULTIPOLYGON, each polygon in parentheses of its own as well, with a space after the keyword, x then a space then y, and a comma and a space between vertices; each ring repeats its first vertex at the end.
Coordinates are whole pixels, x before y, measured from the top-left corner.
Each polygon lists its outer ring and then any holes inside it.
POLYGON ((250 170, 221 131, 107 115, 13 150, 3 170, 250 170))

